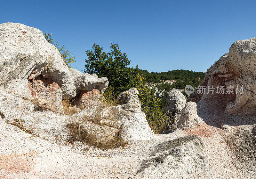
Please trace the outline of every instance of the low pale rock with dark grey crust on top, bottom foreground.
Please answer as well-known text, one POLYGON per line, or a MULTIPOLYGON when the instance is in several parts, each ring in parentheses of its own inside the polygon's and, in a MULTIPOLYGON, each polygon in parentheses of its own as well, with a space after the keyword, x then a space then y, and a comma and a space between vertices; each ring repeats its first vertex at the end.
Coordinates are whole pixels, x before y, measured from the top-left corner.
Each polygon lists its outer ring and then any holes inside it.
POLYGON ((195 135, 158 144, 151 158, 136 178, 198 178, 206 171, 204 143, 195 135))

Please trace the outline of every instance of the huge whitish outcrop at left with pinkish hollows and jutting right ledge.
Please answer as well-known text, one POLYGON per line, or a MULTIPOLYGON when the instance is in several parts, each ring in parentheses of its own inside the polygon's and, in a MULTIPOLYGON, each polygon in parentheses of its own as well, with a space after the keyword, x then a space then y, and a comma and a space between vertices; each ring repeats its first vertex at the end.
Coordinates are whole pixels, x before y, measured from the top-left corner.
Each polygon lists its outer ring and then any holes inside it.
POLYGON ((87 97, 103 94, 108 79, 69 69, 43 33, 18 23, 0 24, 0 85, 19 97, 62 112, 62 99, 75 98, 82 109, 87 97), (52 93, 52 94, 50 94, 52 93))

